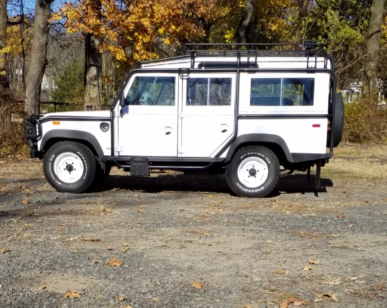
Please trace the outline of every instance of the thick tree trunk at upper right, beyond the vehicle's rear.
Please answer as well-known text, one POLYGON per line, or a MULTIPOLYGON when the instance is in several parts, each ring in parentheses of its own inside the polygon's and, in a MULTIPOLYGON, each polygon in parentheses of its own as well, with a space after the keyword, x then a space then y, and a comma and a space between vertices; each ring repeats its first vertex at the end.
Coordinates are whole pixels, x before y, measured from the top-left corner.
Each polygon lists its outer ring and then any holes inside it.
POLYGON ((376 94, 377 92, 377 60, 380 34, 382 32, 384 2, 385 0, 373 0, 371 5, 369 31, 366 41, 367 58, 362 79, 362 94, 366 96, 376 94))

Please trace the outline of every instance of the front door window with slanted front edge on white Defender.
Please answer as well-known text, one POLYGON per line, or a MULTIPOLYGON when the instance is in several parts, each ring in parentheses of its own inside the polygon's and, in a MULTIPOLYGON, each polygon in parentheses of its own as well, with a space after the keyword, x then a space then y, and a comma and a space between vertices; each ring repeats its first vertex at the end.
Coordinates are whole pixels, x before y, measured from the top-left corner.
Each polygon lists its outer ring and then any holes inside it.
POLYGON ((175 77, 136 76, 125 105, 175 105, 175 77))

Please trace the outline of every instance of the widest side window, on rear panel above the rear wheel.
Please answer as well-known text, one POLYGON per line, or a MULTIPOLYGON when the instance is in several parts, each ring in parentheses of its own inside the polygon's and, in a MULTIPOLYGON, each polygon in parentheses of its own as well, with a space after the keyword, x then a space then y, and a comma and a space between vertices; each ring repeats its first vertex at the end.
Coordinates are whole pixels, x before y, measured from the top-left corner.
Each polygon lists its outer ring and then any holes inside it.
POLYGON ((313 92, 313 78, 252 78, 250 105, 313 105, 313 92))

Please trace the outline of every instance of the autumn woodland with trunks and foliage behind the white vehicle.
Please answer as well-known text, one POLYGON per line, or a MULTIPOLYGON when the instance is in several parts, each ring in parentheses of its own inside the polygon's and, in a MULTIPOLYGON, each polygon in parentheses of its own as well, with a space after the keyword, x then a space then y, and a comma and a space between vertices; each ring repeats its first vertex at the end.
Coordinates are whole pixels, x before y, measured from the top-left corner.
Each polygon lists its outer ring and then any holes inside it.
POLYGON ((107 109, 138 61, 184 43, 305 40, 336 62, 344 140, 386 143, 385 0, 0 0, 0 156, 27 153, 26 116, 107 109))

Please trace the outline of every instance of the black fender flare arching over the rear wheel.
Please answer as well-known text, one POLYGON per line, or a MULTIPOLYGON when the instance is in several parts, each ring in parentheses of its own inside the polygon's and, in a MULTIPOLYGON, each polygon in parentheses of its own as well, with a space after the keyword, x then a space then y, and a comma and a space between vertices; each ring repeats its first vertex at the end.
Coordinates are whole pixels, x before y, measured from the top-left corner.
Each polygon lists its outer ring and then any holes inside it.
POLYGON ((286 159, 288 162, 294 162, 293 157, 290 154, 290 151, 288 149, 288 146, 286 145, 286 142, 284 139, 277 135, 271 135, 268 133, 249 133, 247 135, 238 136, 234 142, 229 146, 229 150, 227 151, 227 156, 225 159, 225 162, 229 162, 232 159, 232 156, 234 155, 236 149, 241 144, 249 144, 249 143, 272 143, 277 144, 281 147, 282 151, 284 151, 284 154, 286 156, 286 159))

